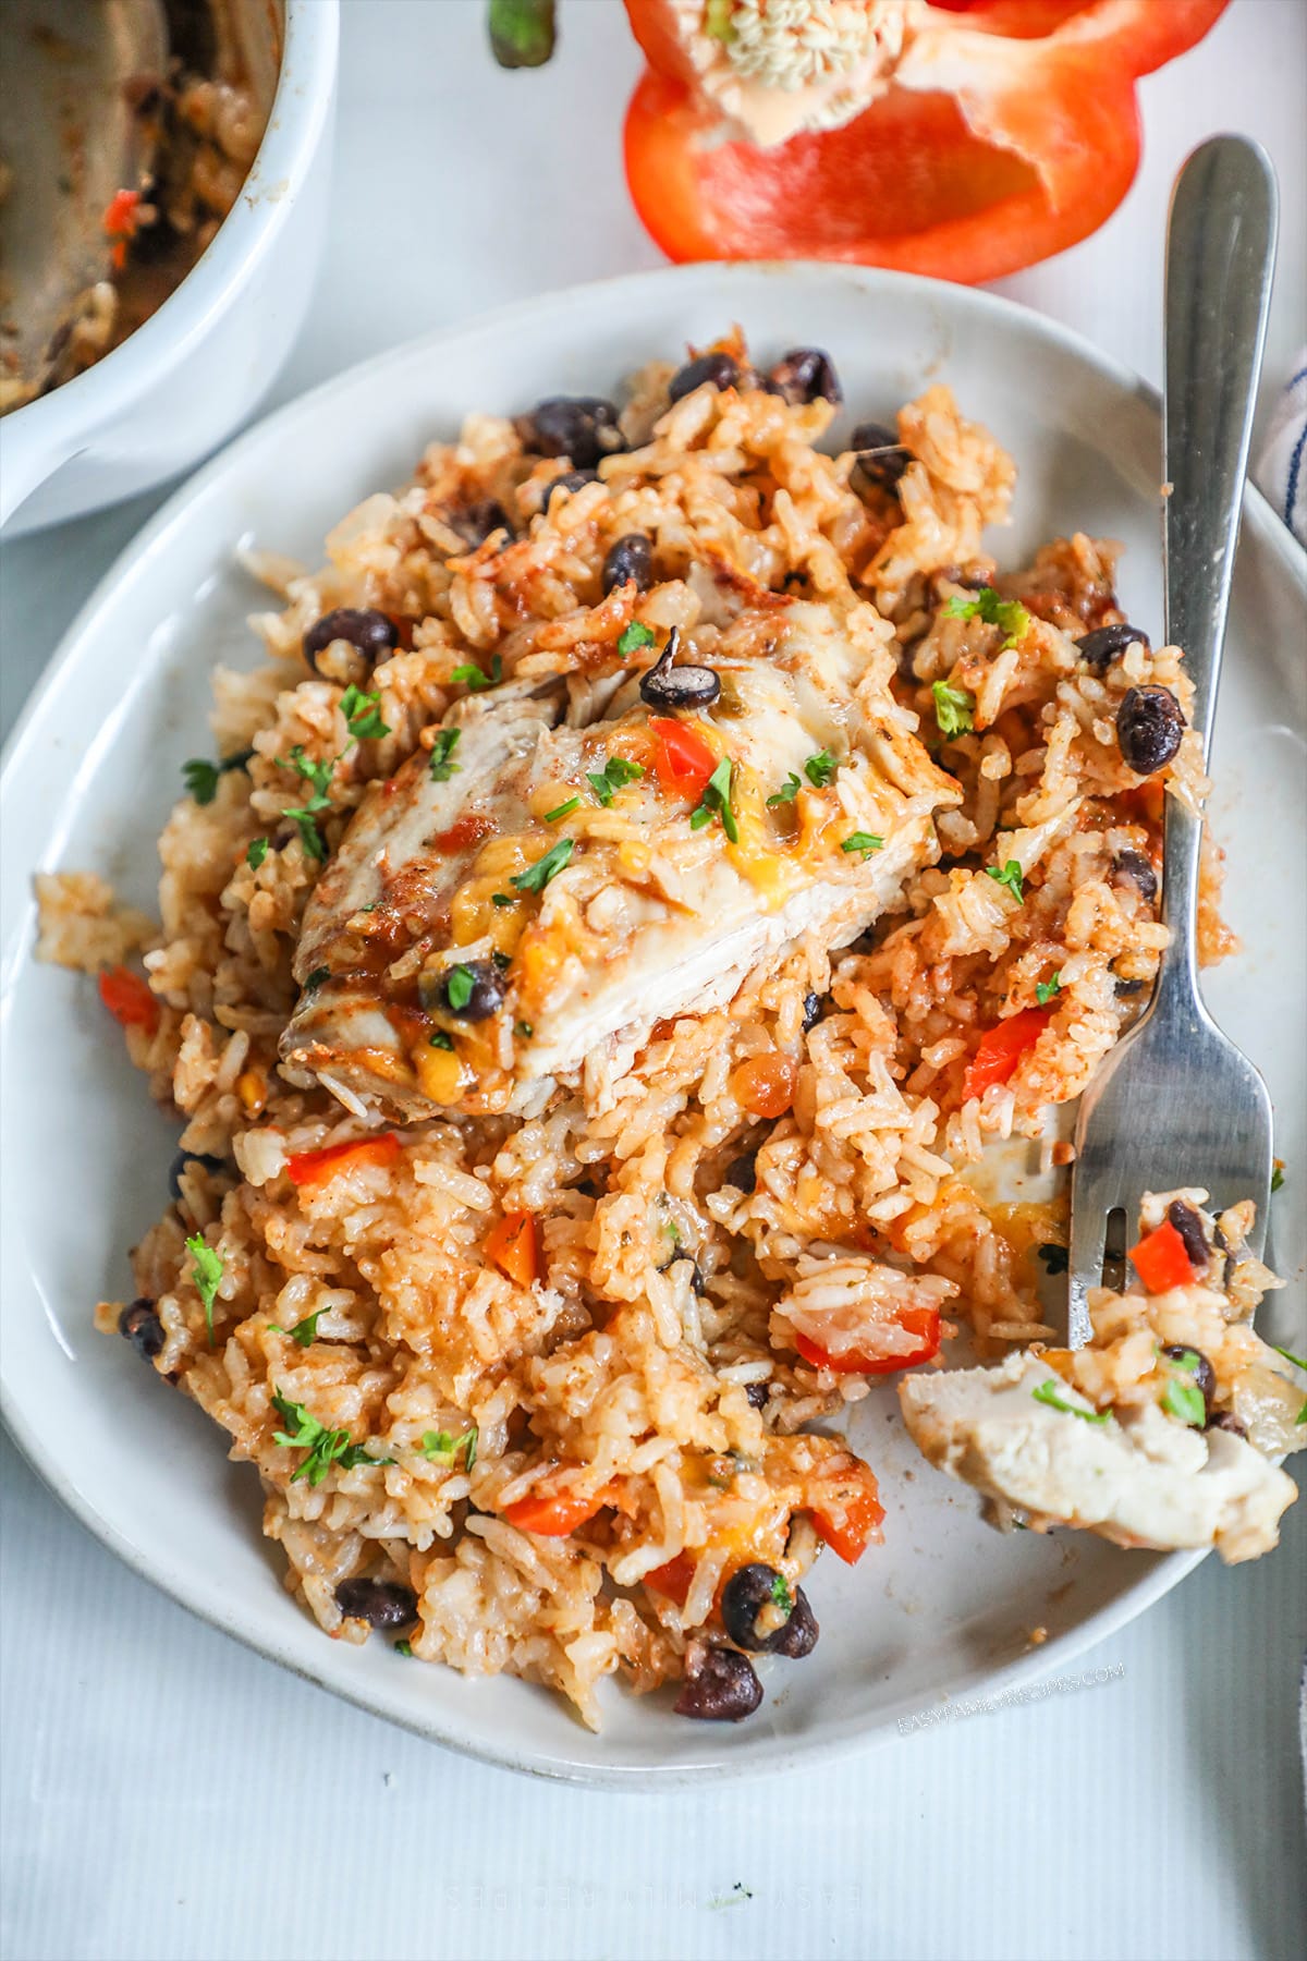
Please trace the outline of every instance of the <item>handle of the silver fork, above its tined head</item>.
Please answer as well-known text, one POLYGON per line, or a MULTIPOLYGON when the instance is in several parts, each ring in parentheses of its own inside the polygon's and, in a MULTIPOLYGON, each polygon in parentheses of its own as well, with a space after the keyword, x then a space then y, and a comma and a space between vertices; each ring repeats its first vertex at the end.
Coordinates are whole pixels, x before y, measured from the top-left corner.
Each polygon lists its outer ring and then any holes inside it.
MULTIPOLYGON (((1166 639, 1184 647, 1191 728, 1207 763, 1231 573, 1238 541, 1272 269, 1276 175, 1266 151, 1217 135, 1193 151, 1166 233, 1162 388, 1166 639)), ((1158 996, 1197 996, 1195 912, 1201 820, 1166 798, 1162 922, 1170 945, 1158 996)))

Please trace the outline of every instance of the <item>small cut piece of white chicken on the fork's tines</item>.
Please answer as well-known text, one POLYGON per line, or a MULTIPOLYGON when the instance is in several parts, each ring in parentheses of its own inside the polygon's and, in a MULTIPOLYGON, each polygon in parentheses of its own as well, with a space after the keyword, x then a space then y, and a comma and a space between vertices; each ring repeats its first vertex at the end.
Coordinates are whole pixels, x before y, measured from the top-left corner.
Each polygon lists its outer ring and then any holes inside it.
POLYGON ((907 1377, 899 1404, 929 1463, 1037 1530, 1084 1526, 1154 1549, 1215 1545, 1236 1563, 1276 1545, 1297 1496, 1244 1437, 1193 1430, 1156 1404, 1103 1420, 1033 1355, 907 1377))

